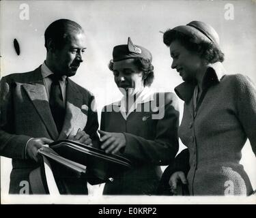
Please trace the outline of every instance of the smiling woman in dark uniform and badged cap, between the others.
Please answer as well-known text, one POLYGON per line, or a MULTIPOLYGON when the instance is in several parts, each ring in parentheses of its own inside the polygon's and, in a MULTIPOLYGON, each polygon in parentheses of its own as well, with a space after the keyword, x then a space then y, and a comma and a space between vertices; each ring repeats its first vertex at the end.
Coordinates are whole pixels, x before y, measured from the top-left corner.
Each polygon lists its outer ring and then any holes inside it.
POLYGON ((128 44, 113 48, 109 63, 115 83, 124 95, 102 110, 101 148, 130 159, 132 169, 105 184, 105 195, 155 195, 162 175, 178 151, 179 111, 173 93, 153 93, 152 54, 128 44))

